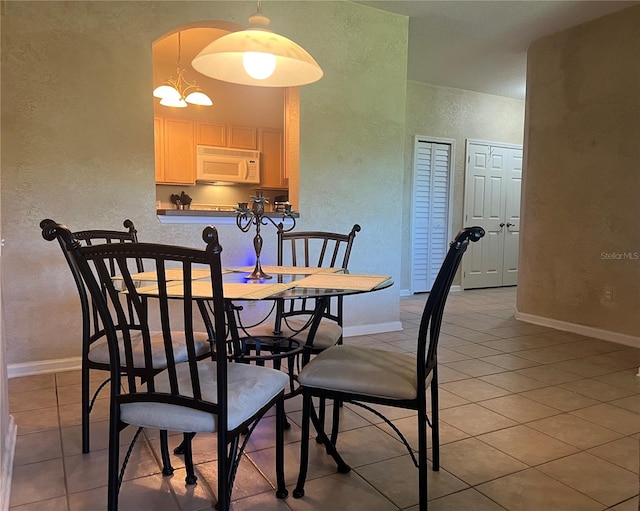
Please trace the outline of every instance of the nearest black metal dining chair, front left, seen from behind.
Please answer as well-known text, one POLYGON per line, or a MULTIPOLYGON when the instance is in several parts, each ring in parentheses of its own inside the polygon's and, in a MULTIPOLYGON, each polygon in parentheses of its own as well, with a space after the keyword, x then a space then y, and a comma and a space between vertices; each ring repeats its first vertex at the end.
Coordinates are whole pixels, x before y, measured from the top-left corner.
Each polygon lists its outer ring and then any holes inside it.
MULTIPOLYGON (((195 432, 217 436, 217 509, 227 511, 235 474, 244 447, 260 418, 276 406, 276 495, 287 496, 284 485, 284 388, 288 377, 281 371, 230 362, 227 357, 226 306, 222 285, 218 233, 203 232, 205 250, 149 243, 81 246, 73 234, 59 224, 43 229, 47 239, 57 238, 69 254, 86 284, 103 325, 110 356, 111 413, 109 428, 108 510, 118 508, 118 493, 128 454, 120 466, 120 433, 138 427, 129 453, 143 428, 195 432), (156 285, 140 286, 132 278, 131 264, 142 260, 154 268, 156 285), (119 279, 112 278, 110 264, 119 279), (194 296, 196 270, 209 270, 212 321, 207 325, 200 310, 202 297, 194 296), (176 283, 167 272, 179 272, 182 291, 173 295, 176 283), (154 351, 154 332, 159 327, 164 355, 160 370, 154 351), (210 328, 214 350, 209 359, 198 357, 197 332, 210 328), (133 355, 133 345, 142 344, 142 366, 133 355), (174 354, 183 345, 186 360, 174 354), (165 363, 166 362, 166 363, 165 363), (131 381, 136 373, 141 381, 131 381), (126 382, 126 384, 125 384, 126 382), (123 391, 122 388, 126 388, 123 391)), ((186 442, 187 484, 196 482, 191 443, 186 442)))

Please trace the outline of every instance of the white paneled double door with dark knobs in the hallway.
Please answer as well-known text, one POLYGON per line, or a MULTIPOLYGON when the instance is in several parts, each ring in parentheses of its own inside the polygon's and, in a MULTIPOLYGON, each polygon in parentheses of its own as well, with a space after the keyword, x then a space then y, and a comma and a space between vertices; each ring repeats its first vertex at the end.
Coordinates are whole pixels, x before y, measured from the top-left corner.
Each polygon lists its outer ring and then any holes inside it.
POLYGON ((522 146, 467 141, 464 224, 486 234, 462 261, 464 289, 517 284, 521 180, 522 146))

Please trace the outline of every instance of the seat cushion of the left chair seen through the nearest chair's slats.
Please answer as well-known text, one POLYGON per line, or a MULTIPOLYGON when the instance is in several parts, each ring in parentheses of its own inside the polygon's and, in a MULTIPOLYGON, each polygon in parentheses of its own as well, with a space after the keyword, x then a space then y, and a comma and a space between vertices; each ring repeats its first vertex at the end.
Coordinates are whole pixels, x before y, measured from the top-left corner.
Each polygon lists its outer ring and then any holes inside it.
MULTIPOLYGON (((132 334, 131 344, 133 348, 133 364, 135 367, 144 367, 144 351, 142 346, 142 334, 135 332, 132 334)), ((198 356, 204 355, 211 351, 209 344, 209 336, 205 332, 194 332, 196 341, 196 353, 198 356)), ((184 362, 187 360, 187 344, 184 332, 172 332, 173 356, 176 362, 184 362)), ((164 353, 164 342, 162 340, 162 332, 151 333, 151 355, 153 367, 162 369, 167 367, 167 360, 164 353)), ((92 345, 89 351, 89 360, 97 364, 109 364, 109 346, 106 338, 103 342, 97 342, 92 345)), ((124 366, 124 345, 120 344, 120 362, 124 366)))

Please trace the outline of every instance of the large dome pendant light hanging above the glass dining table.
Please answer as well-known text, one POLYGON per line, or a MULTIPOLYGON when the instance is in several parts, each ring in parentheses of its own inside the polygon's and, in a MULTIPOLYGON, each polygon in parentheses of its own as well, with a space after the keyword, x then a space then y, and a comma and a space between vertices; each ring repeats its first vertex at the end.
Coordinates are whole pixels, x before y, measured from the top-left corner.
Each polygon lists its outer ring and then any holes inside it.
POLYGON ((231 32, 205 47, 191 62, 205 76, 262 87, 295 87, 318 81, 322 69, 303 48, 269 30, 262 4, 249 28, 231 32))

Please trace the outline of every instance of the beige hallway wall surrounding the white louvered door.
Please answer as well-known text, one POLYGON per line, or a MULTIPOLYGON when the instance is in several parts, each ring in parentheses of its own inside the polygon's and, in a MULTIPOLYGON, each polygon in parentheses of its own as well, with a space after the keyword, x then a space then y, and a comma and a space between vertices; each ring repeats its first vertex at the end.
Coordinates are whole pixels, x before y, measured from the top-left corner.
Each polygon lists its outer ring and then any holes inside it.
MULTIPOLYGON (((465 141, 468 138, 522 144, 524 101, 479 92, 408 82, 402 199, 402 277, 411 286, 411 201, 415 135, 455 140, 452 236, 462 228, 465 141)), ((460 276, 454 284, 460 284, 460 276)))

